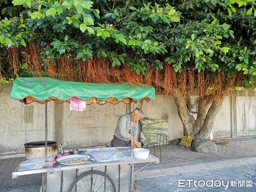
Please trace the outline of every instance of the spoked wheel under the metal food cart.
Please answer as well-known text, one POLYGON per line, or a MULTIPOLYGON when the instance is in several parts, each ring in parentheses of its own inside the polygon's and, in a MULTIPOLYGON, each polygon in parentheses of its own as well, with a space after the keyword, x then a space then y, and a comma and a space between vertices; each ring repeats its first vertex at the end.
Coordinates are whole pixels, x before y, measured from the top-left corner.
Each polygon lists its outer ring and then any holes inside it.
POLYGON ((91 171, 77 177, 68 192, 116 192, 116 187, 107 174, 91 171))

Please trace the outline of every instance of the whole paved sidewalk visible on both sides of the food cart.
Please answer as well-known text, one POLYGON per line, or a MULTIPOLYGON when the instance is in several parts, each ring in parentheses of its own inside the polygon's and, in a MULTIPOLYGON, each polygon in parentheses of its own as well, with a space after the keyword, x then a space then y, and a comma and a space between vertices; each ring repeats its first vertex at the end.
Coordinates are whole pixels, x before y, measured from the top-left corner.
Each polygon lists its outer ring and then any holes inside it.
MULTIPOLYGON (((215 153, 197 153, 189 148, 181 148, 175 143, 162 146, 162 163, 151 164, 140 172, 134 179, 158 177, 177 173, 215 169, 229 166, 256 164, 256 138, 231 140, 227 145, 217 145, 215 153)), ((150 153, 154 155, 153 147, 150 153)), ((160 158, 159 147, 156 157, 160 158)), ((12 180, 12 172, 19 165, 22 157, 0 159, 0 192, 39 192, 42 175, 23 175, 12 180)), ((134 172, 146 164, 135 164, 134 172)))

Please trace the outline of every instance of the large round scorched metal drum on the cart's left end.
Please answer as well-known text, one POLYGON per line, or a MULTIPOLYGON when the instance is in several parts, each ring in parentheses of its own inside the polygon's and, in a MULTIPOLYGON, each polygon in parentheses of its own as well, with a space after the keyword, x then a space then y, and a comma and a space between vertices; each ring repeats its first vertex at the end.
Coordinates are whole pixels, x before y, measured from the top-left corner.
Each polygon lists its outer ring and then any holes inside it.
MULTIPOLYGON (((45 141, 34 141, 25 143, 26 160, 40 159, 45 157, 45 141)), ((47 156, 49 157, 50 152, 52 157, 56 157, 58 152, 58 145, 56 141, 47 141, 47 156)))

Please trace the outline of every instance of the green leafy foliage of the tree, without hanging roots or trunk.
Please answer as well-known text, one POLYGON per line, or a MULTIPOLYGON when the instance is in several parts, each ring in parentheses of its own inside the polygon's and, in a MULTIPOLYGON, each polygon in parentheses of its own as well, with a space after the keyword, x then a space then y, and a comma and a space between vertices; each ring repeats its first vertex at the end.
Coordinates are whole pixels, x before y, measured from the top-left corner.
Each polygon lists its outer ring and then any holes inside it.
MULTIPOLYGON (((149 67, 170 65, 176 73, 239 75, 243 86, 256 87, 256 0, 0 0, 0 6, 6 76, 12 55, 6 50, 35 45, 44 67, 64 55, 99 57, 144 76, 149 67)), ((26 69, 19 61, 17 74, 26 69)))

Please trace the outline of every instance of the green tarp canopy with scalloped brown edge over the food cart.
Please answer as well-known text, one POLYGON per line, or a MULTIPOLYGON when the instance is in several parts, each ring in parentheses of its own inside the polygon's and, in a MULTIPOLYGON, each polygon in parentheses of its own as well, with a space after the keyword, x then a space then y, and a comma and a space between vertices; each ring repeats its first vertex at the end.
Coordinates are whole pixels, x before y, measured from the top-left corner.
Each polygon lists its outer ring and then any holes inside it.
POLYGON ((129 103, 149 101, 155 99, 155 89, 152 86, 140 86, 137 84, 99 84, 74 81, 61 81, 49 77, 26 77, 15 79, 10 96, 25 104, 39 102, 44 104, 50 100, 55 102, 70 102, 71 97, 78 97, 91 103, 104 104, 111 102, 129 103))

